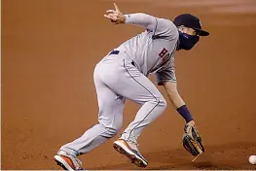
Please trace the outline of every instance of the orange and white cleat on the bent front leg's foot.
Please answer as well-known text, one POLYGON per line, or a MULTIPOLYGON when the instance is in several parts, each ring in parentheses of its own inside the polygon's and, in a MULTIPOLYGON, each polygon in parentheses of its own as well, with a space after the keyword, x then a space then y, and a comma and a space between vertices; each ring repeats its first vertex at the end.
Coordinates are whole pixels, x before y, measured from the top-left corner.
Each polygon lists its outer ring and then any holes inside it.
POLYGON ((147 167, 148 161, 139 154, 135 143, 119 139, 114 142, 113 147, 120 154, 126 155, 131 163, 134 163, 136 166, 147 167))

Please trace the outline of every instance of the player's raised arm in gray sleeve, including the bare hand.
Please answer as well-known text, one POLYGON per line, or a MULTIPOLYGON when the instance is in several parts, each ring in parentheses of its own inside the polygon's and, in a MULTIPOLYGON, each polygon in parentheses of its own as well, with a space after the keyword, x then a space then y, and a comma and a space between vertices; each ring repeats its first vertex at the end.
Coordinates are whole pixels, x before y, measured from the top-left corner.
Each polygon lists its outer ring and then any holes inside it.
POLYGON ((115 10, 108 10, 107 13, 109 14, 104 15, 104 17, 108 18, 111 22, 115 24, 130 23, 145 27, 149 30, 155 29, 157 22, 156 17, 152 17, 143 13, 123 15, 115 3, 114 6, 115 10))

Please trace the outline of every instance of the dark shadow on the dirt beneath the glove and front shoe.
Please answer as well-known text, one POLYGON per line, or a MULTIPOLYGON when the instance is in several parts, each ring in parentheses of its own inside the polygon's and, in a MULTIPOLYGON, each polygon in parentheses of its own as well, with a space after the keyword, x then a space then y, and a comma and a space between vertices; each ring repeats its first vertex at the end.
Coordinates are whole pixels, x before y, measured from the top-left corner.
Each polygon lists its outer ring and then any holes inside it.
MULTIPOLYGON (((166 169, 255 169, 247 161, 247 156, 256 152, 256 143, 236 143, 223 146, 205 147, 205 153, 201 154, 196 161, 192 162, 193 156, 184 149, 152 152, 144 154, 149 165, 145 170, 166 169)), ((89 170, 140 170, 130 162, 116 165, 107 165, 89 170)), ((143 169, 144 170, 144 169, 143 169)))

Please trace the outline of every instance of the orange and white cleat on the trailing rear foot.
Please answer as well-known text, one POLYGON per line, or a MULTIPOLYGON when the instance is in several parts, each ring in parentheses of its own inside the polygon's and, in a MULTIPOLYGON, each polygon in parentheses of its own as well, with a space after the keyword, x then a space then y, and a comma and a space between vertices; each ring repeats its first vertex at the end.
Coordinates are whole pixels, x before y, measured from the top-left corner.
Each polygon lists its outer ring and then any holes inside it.
POLYGON ((64 170, 84 170, 82 168, 82 162, 71 154, 67 154, 64 151, 59 151, 55 155, 55 162, 64 170))

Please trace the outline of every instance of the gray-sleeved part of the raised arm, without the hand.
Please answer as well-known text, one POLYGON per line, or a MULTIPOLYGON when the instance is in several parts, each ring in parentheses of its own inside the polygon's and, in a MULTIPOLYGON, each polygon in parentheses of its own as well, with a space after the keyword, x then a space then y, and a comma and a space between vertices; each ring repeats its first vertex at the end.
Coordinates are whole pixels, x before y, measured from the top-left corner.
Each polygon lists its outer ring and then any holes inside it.
POLYGON ((156 27, 156 17, 143 13, 125 15, 126 23, 139 25, 147 29, 153 30, 156 27))

